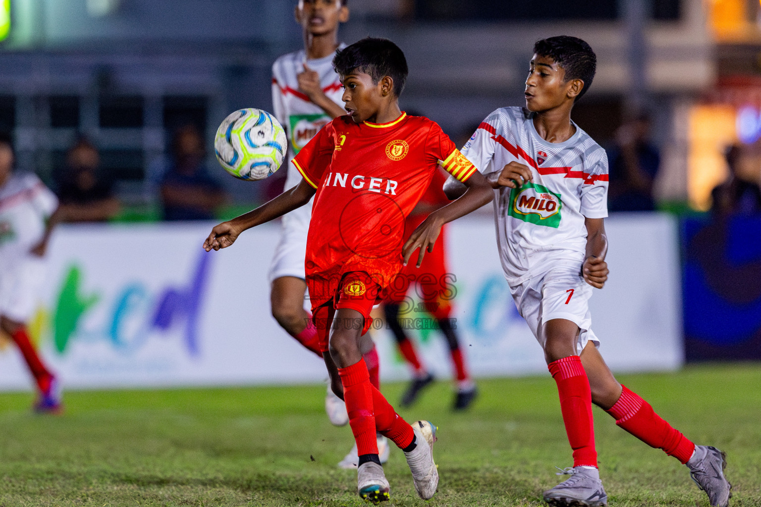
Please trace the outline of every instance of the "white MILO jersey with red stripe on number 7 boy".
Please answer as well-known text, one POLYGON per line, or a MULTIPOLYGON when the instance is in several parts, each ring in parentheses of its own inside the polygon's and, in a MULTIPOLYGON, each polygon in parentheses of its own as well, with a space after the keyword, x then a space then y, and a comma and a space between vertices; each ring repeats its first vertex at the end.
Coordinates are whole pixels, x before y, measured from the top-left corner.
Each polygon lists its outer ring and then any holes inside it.
POLYGON ((497 244, 511 286, 558 266, 581 270, 584 217, 608 216, 607 154, 575 127, 567 141, 550 143, 537 133, 530 111, 503 107, 484 119, 462 149, 482 173, 513 161, 533 173, 533 182, 519 189, 495 190, 497 244))

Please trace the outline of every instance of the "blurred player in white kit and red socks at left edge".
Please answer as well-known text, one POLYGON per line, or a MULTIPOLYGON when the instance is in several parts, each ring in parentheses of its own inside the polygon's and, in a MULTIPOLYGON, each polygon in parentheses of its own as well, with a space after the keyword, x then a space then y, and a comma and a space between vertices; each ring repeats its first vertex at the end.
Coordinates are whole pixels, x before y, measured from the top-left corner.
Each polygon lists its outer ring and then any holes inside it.
POLYGON ((37 383, 34 409, 62 409, 56 377, 31 344, 26 323, 45 281, 43 255, 56 223, 58 199, 33 174, 12 173, 11 138, 0 135, 0 328, 21 350, 37 383))

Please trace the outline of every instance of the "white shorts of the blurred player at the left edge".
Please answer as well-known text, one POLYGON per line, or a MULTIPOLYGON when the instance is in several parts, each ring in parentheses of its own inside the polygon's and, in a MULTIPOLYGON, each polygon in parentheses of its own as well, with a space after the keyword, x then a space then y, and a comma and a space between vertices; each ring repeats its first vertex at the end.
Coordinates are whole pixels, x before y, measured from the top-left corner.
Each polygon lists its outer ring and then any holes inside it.
POLYGON ((0 266, 0 315, 26 324, 34 315, 47 271, 43 258, 31 255, 0 266))

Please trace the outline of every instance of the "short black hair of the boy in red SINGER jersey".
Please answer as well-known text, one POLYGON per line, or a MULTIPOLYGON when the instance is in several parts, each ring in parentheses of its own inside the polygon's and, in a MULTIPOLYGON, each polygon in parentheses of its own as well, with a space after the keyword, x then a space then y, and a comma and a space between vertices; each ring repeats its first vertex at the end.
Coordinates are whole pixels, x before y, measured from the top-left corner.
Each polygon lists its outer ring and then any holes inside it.
POLYGON ((370 74, 375 84, 385 76, 393 79, 393 93, 400 97, 407 81, 407 59, 399 46, 388 39, 366 37, 351 46, 339 49, 333 58, 333 68, 340 75, 360 71, 370 74))

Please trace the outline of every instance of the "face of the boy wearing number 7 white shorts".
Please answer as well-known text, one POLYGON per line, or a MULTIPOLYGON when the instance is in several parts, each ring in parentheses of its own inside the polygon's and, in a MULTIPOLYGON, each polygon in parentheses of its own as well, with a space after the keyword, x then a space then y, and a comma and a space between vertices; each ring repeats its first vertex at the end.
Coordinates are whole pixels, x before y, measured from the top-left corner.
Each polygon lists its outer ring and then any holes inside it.
POLYGON ((549 56, 533 55, 526 78, 526 109, 553 109, 566 100, 575 100, 583 87, 581 79, 565 81, 565 71, 549 56))

